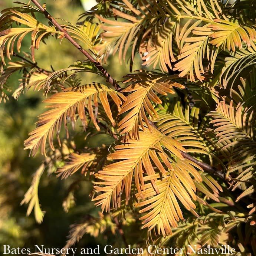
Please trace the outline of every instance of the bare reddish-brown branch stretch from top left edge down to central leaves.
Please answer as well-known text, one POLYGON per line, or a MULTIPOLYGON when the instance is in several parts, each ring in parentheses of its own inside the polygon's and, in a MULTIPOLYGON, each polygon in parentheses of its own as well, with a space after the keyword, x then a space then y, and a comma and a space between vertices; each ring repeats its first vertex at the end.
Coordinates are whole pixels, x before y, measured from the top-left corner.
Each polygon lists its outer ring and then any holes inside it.
POLYGON ((68 39, 69 42, 72 43, 72 45, 74 45, 80 52, 82 52, 83 55, 85 55, 86 58, 96 66, 96 68, 98 68, 98 70, 105 76, 106 80, 111 83, 111 85, 114 86, 117 91, 120 91, 121 87, 118 85, 115 79, 112 78, 111 75, 109 75, 107 70, 103 66, 101 66, 101 64, 97 60, 95 60, 85 49, 83 49, 83 47, 79 45, 58 22, 56 22, 56 20, 43 8, 40 3, 38 3, 37 0, 31 1, 42 11, 42 13, 45 14, 45 17, 49 19, 50 22, 52 22, 52 24, 63 33, 64 37, 68 39))

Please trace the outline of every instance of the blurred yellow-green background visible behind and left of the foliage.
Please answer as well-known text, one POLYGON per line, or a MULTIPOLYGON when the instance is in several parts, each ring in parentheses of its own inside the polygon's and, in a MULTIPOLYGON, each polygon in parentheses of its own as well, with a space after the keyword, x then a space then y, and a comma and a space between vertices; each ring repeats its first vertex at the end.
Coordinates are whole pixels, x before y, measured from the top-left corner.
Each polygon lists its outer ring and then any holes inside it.
MULTIPOLYGON (((61 17, 75 24, 79 14, 90 9, 95 0, 56 0, 40 1, 47 4, 47 10, 53 17, 61 17), (85 9, 84 9, 85 8, 85 9)), ((0 8, 15 6, 10 0, 0 1, 0 8)), ((42 15, 42 20, 44 16, 42 15)), ((23 42, 23 50, 29 52, 30 38, 23 42)), ((83 55, 69 42, 49 38, 47 45, 41 44, 36 51, 36 61, 41 68, 55 70, 67 68, 76 60, 84 60, 83 55)), ((135 67, 139 68, 139 66, 135 67)), ((126 68, 119 65, 118 58, 110 58, 108 71, 116 80, 129 73, 126 68)), ((12 88, 19 86, 19 76, 9 79, 12 88)), ((82 84, 92 82, 93 76, 83 76, 82 84)), ((24 193, 30 187, 32 175, 41 164, 43 157, 39 154, 33 158, 29 152, 23 150, 23 141, 28 133, 35 128, 37 116, 44 112, 42 92, 28 91, 18 101, 9 94, 9 101, 0 104, 0 254, 3 253, 3 244, 11 247, 31 247, 34 244, 44 244, 47 248, 62 248, 70 224, 79 222, 86 214, 95 215, 99 209, 95 208, 89 198, 91 184, 82 182, 76 191, 76 207, 68 213, 63 210, 62 202, 67 196, 67 190, 72 178, 60 180, 56 175, 45 172, 39 185, 39 199, 43 211, 46 211, 42 224, 37 224, 34 214, 26 216, 27 205, 20 206, 24 193)), ((97 143, 94 141, 94 143, 97 143)), ((99 236, 94 239, 85 235, 76 246, 95 247, 96 244, 111 244, 111 239, 118 242, 119 237, 99 236)))

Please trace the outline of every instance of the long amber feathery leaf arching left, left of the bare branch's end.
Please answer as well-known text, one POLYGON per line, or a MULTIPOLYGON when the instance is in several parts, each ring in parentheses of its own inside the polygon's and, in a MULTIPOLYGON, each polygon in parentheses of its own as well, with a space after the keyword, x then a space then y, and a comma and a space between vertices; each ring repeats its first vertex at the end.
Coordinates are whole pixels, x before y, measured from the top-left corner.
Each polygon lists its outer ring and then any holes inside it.
POLYGON ((81 119, 85 129, 87 126, 85 107, 88 109, 89 116, 91 117, 93 124, 99 131, 100 128, 97 124, 95 112, 93 112, 92 106, 92 102, 95 108, 98 106, 98 98, 112 125, 115 125, 108 102, 108 95, 113 99, 120 110, 120 105, 122 104, 121 99, 125 100, 125 97, 122 95, 122 93, 116 92, 115 90, 100 83, 92 83, 75 88, 68 88, 65 92, 55 93, 51 98, 44 101, 46 103, 53 104, 47 106, 48 108, 52 109, 39 116, 37 128, 30 132, 30 137, 24 141, 25 149, 30 149, 32 154, 35 155, 37 149, 41 147, 41 153, 46 155, 45 146, 48 137, 50 148, 54 150, 54 129, 56 128, 56 135, 60 144, 59 132, 62 121, 68 137, 67 118, 69 117, 72 122, 75 122, 76 111, 78 112, 79 118, 81 119))

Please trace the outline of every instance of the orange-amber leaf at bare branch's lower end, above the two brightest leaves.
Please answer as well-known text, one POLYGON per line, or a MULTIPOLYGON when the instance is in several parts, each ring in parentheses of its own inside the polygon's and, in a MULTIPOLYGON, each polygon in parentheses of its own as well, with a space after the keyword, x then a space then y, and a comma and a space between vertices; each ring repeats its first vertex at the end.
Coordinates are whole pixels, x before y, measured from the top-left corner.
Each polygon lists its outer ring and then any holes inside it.
MULTIPOLYGON (((119 122, 121 133, 131 132, 134 138, 138 138, 138 126, 143 128, 144 120, 148 127, 146 113, 153 119, 157 117, 157 112, 151 102, 161 104, 161 99, 157 96, 175 93, 173 87, 185 88, 180 83, 171 80, 170 76, 163 76, 158 73, 141 72, 125 76, 124 83, 131 82, 123 92, 132 92, 127 96, 127 102, 122 105, 119 115, 129 111, 129 113, 119 122)), ((150 128, 151 129, 151 128, 150 128)))

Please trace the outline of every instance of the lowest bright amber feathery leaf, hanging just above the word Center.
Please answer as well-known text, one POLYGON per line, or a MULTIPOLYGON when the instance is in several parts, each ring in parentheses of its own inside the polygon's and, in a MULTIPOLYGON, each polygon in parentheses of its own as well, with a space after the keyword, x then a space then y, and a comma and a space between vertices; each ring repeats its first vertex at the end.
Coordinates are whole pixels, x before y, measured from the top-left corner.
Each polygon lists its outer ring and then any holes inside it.
POLYGON ((139 199, 145 199, 135 204, 136 207, 142 208, 140 213, 145 213, 140 218, 142 228, 147 227, 150 231, 156 227, 157 233, 163 234, 164 237, 172 234, 172 228, 178 227, 178 221, 184 219, 179 203, 197 216, 193 210, 196 205, 192 199, 196 201, 197 197, 192 177, 195 177, 197 182, 202 180, 196 170, 196 168, 202 170, 201 167, 190 160, 177 159, 173 161, 172 166, 173 170, 168 172, 167 177, 163 178, 159 175, 155 181, 159 193, 152 183, 148 183, 145 185, 145 190, 137 194, 139 199))

